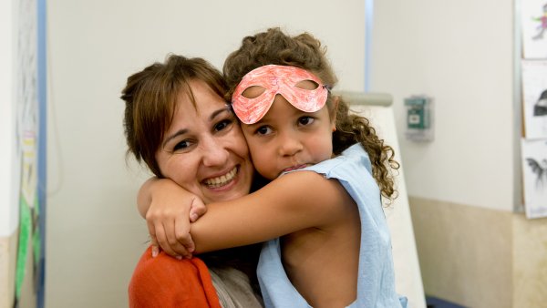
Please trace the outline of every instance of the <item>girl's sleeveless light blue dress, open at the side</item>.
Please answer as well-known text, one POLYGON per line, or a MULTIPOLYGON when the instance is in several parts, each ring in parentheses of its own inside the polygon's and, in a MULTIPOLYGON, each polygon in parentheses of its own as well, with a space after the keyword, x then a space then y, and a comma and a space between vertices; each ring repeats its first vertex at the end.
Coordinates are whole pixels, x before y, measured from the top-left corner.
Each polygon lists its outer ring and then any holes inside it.
MULTIPOLYGON (((313 170, 324 174, 326 179, 340 181, 359 208, 357 298, 348 307, 407 307, 407 299, 395 291, 391 237, 366 151, 356 144, 335 159, 301 170, 313 170)), ((257 273, 266 307, 311 307, 284 272, 279 239, 264 243, 257 273)))

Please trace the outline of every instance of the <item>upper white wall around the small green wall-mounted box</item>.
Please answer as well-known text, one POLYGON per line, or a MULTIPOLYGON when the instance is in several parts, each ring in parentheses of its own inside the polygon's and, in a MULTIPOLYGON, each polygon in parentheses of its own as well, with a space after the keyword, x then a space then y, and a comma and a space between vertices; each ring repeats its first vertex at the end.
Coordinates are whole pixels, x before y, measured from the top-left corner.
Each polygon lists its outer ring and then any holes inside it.
MULTIPOLYGON (((399 139, 408 194, 512 210, 515 198, 511 0, 375 1, 371 90, 435 99, 435 141, 399 139)), ((518 192, 517 192, 518 193, 518 192)))

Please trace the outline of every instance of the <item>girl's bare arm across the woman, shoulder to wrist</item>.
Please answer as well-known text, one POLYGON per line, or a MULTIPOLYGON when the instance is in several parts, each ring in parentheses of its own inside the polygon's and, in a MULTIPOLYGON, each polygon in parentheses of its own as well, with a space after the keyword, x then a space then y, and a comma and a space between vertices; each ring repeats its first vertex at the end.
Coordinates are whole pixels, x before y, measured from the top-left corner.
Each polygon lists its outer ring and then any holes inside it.
POLYGON ((312 227, 324 229, 345 220, 355 203, 337 180, 297 171, 241 199, 207 207, 207 215, 191 223, 195 252, 267 241, 312 227))

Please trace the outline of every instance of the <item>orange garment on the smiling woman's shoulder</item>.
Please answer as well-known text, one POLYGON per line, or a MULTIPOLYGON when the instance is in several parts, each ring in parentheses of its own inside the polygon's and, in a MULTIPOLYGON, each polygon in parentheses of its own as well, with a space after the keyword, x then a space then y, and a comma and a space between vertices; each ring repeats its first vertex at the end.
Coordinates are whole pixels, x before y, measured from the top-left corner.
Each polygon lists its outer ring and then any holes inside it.
POLYGON ((198 258, 177 260, 146 250, 129 282, 132 308, 221 308, 207 265, 198 258))

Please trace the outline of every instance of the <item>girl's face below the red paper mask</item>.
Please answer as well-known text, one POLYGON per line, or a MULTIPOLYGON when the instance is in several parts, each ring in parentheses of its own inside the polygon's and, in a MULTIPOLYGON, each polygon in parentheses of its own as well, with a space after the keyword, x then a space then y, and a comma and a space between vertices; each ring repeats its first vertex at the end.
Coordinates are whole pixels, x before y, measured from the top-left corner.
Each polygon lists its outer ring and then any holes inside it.
MULTIPOLYGON (((251 87, 247 91, 263 89, 251 87)), ((245 96, 257 94, 245 93, 245 96)), ((333 154, 335 118, 329 116, 326 105, 315 112, 304 112, 276 95, 265 116, 254 124, 242 124, 242 129, 254 168, 268 180, 274 180, 284 171, 330 159, 333 154)))

